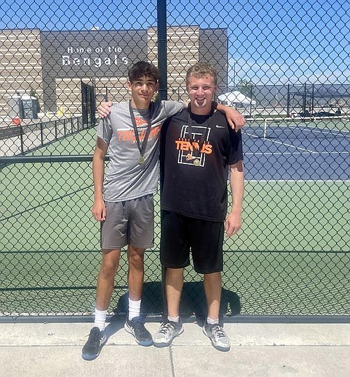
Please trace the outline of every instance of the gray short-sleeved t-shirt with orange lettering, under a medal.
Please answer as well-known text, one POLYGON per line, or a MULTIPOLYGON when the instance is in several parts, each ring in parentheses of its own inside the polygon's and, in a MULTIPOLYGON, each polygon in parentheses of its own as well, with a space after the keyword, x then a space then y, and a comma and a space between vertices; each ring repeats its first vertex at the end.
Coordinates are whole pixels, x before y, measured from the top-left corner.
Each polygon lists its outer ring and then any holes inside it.
MULTIPOLYGON (((108 145, 109 171, 103 182, 103 198, 121 202, 155 193, 158 186, 160 128, 165 119, 183 110, 183 103, 161 101, 153 103, 151 131, 144 153, 145 163, 139 164, 139 149, 129 112, 129 102, 114 103, 109 117, 101 119, 97 136, 108 145)), ((133 109, 140 145, 151 116, 150 110, 133 109)))

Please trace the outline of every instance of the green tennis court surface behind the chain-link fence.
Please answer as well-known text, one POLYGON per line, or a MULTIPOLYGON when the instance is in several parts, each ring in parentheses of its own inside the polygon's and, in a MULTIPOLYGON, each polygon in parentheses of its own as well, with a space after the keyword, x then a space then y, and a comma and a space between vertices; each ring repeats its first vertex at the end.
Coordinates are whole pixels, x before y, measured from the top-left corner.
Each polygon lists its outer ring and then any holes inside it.
MULTIPOLYGON (((94 139, 94 129, 82 131, 33 155, 91 154, 94 139)), ((1 315, 91 314, 100 263, 91 163, 15 163, 0 174, 1 315)), ((248 179, 243 229, 224 244, 224 313, 349 313, 346 193, 349 181, 248 179)), ((162 311, 159 211, 157 194, 155 246, 145 256, 149 313, 162 311)), ((117 312, 127 292, 125 253, 120 268, 110 306, 117 312)), ((191 314, 202 309, 201 276, 189 267, 185 281, 183 311, 191 314)))

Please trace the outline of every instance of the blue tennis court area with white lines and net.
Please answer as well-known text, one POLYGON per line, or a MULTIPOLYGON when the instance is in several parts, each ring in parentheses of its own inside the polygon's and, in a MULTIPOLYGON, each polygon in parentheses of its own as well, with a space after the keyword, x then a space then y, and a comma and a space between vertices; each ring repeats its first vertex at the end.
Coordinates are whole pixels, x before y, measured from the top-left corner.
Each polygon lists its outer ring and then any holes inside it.
POLYGON ((243 150, 248 180, 346 181, 350 119, 248 122, 243 150))

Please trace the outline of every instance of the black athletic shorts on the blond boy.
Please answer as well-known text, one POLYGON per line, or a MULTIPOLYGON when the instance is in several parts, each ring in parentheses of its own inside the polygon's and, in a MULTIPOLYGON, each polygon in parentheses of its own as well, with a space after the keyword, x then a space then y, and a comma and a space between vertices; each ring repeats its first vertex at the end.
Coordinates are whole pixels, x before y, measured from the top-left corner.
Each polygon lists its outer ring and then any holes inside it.
POLYGON ((160 261, 169 268, 190 265, 192 253, 195 271, 199 274, 221 272, 224 223, 194 219, 162 210, 160 261))

